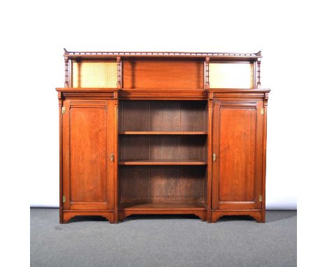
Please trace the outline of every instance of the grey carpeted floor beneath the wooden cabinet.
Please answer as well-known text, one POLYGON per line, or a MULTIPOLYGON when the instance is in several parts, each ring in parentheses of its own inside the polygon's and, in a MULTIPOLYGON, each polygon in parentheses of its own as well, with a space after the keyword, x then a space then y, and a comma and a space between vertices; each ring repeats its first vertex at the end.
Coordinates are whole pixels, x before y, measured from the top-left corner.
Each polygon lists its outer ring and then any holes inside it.
POLYGON ((268 211, 266 224, 223 217, 99 217, 59 224, 59 211, 31 208, 31 266, 296 266, 296 211, 268 211))

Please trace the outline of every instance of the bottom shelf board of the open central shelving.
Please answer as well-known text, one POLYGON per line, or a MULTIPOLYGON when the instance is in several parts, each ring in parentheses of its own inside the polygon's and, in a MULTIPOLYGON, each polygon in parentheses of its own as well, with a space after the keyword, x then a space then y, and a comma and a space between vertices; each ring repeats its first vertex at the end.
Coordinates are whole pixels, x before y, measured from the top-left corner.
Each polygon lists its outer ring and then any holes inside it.
POLYGON ((205 210, 204 203, 122 203, 124 210, 205 210))

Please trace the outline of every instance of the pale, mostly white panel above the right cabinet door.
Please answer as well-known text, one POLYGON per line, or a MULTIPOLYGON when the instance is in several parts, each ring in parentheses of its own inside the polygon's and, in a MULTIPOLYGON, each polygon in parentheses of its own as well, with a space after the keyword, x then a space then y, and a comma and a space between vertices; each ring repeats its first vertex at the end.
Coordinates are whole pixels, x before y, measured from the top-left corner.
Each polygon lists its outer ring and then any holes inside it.
POLYGON ((210 88, 253 88, 250 63, 210 63, 210 88))

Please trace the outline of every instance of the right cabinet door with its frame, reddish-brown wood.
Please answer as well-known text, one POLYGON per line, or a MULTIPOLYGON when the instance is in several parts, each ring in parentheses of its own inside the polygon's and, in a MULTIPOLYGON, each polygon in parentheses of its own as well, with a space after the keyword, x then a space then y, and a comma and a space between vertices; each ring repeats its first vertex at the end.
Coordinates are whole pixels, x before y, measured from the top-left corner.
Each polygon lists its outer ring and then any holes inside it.
POLYGON ((212 209, 261 208, 263 101, 214 101, 212 209))

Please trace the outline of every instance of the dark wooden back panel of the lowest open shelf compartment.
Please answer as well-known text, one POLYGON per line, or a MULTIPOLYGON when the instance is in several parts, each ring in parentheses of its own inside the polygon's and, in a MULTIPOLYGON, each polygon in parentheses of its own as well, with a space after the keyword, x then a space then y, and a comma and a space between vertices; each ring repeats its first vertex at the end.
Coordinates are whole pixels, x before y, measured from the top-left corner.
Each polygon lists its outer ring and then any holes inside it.
POLYGON ((206 166, 119 166, 119 203, 203 203, 206 166))

